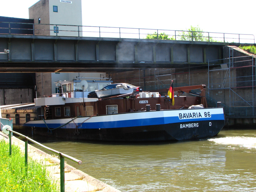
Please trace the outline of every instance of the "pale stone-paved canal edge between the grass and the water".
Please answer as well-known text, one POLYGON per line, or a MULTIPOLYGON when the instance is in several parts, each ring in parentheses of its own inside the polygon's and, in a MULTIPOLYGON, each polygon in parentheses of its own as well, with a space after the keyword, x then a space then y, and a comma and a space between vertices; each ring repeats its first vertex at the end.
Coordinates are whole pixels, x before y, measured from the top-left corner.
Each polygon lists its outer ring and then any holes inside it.
MULTIPOLYGON (((0 139, 4 139, 9 143, 9 137, 0 132, 0 139)), ((20 147, 21 151, 25 152, 25 142, 12 136, 12 144, 20 147)), ((60 180, 60 160, 58 157, 53 157, 42 150, 28 145, 28 156, 47 165, 47 170, 52 174, 52 178, 60 180)), ((119 190, 97 180, 90 175, 65 163, 65 192, 120 192, 119 190)))

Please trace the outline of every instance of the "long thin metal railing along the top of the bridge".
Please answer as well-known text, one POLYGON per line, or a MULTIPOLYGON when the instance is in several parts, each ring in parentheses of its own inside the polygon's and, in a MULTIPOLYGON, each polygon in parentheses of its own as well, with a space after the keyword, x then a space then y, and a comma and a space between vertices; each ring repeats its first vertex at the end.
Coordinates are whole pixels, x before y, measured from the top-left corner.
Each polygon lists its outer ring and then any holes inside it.
POLYGON ((254 35, 216 33, 204 31, 163 30, 146 28, 120 28, 100 26, 76 26, 36 23, 0 22, 0 34, 51 35, 78 37, 110 37, 134 39, 164 39, 223 43, 253 43, 254 35))

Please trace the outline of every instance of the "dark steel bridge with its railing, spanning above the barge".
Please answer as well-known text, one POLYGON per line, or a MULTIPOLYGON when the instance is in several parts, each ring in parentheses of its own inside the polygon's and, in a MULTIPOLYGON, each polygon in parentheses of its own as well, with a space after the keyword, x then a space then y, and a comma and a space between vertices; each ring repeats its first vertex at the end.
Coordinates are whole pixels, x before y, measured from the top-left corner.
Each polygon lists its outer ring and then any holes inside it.
POLYGON ((113 72, 208 65, 208 61, 214 64, 222 59, 225 45, 240 45, 244 40, 255 43, 253 35, 243 34, 190 31, 191 35, 184 35, 189 31, 67 25, 54 25, 51 30, 51 25, 49 29, 37 26, 44 24, 31 24, 31 29, 26 29, 31 35, 24 35, 19 34, 22 28, 5 23, 8 26, 0 28, 0 52, 8 49, 9 53, 0 54, 1 73, 113 72), (54 35, 42 35, 45 32, 54 35), (199 33, 203 41, 195 41, 199 33), (149 34, 156 38, 147 39, 149 34), (160 39, 163 34, 170 38, 160 39))

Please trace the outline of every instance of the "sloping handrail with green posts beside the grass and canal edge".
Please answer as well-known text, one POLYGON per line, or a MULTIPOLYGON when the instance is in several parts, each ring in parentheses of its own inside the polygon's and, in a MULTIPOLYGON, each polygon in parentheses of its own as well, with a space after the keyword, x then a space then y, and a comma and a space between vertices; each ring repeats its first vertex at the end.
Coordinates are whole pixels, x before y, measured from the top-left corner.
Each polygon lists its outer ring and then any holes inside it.
POLYGON ((80 161, 80 160, 78 160, 74 157, 68 156, 64 153, 61 153, 59 151, 56 151, 52 148, 46 147, 46 146, 42 145, 41 143, 39 143, 35 140, 32 140, 32 139, 30 139, 29 137, 27 137, 25 135, 20 134, 19 132, 12 131, 11 129, 8 129, 8 128, 6 130, 9 131, 10 155, 12 155, 12 135, 11 135, 11 132, 25 138, 25 165, 28 165, 28 141, 31 141, 31 142, 35 143, 36 145, 39 145, 40 147, 42 147, 46 150, 49 150, 52 153, 60 156, 60 191, 65 192, 65 160, 64 160, 64 157, 73 161, 73 162, 75 162, 75 163, 77 163, 77 164, 79 164, 79 165, 82 164, 82 161, 80 161))

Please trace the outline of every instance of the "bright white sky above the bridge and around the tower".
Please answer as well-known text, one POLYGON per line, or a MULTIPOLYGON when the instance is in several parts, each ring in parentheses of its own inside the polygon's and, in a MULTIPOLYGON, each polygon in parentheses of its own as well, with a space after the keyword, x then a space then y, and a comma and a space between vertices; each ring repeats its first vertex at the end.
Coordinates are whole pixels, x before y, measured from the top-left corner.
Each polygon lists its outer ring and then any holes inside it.
MULTIPOLYGON (((76 1, 76 0, 73 0, 76 1)), ((38 0, 1 0, 0 16, 28 19, 38 0)), ((85 26, 253 34, 256 0, 82 0, 85 26)))

